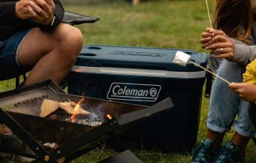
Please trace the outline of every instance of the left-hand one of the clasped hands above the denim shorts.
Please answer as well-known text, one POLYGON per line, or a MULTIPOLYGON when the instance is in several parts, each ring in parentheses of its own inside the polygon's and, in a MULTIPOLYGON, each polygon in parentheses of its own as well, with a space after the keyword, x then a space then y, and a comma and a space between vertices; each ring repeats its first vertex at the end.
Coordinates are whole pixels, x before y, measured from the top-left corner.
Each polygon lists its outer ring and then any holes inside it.
POLYGON ((30 5, 30 0, 20 0, 16 2, 15 13, 16 17, 20 19, 30 19, 32 17, 28 6, 30 5))

